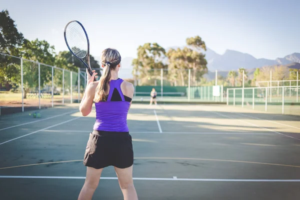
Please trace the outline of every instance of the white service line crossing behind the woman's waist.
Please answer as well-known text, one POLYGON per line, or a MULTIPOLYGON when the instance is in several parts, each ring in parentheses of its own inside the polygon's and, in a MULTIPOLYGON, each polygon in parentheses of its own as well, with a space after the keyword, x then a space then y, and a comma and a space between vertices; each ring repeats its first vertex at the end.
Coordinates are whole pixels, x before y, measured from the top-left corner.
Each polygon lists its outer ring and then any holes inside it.
MULTIPOLYGON (((91 132, 90 130, 44 130, 44 131, 45 132, 82 132, 82 133, 91 132)), ((129 131, 129 133, 278 135, 277 133, 256 133, 256 132, 158 132, 158 131, 129 131)))

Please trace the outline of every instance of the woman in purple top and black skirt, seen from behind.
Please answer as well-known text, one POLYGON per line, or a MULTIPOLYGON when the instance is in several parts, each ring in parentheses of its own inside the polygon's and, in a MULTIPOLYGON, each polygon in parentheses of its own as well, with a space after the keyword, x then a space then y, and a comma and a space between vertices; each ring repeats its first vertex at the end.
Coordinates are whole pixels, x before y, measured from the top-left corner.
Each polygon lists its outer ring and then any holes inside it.
POLYGON ((79 107, 81 114, 86 116, 94 101, 96 121, 86 145, 83 160, 86 178, 78 199, 91 199, 102 169, 109 165, 114 166, 124 199, 137 199, 132 180, 132 140, 127 127, 134 87, 118 78, 121 56, 116 49, 103 50, 101 60, 103 75, 94 82, 96 73, 93 71, 89 75, 79 107))

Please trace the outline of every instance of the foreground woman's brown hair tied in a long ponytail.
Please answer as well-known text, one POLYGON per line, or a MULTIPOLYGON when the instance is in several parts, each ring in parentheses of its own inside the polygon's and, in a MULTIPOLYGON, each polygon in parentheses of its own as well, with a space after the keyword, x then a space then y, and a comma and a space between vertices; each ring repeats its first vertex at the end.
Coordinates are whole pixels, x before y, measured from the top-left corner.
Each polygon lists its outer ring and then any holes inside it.
POLYGON ((110 70, 114 70, 120 63, 120 53, 114 48, 106 48, 102 51, 101 64, 104 66, 103 74, 96 87, 94 102, 106 101, 109 92, 109 81, 111 78, 110 70))

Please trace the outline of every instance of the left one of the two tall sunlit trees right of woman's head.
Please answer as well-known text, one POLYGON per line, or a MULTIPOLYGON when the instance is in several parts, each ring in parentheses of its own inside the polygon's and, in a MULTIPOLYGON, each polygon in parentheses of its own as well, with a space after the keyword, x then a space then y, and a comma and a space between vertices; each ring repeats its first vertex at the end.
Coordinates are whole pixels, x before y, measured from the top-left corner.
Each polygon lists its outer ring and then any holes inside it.
POLYGON ((155 69, 167 68, 167 65, 163 63, 164 58, 165 49, 158 43, 144 43, 138 46, 137 58, 132 60, 133 75, 142 82, 148 79, 159 79, 160 71, 155 71, 155 69))

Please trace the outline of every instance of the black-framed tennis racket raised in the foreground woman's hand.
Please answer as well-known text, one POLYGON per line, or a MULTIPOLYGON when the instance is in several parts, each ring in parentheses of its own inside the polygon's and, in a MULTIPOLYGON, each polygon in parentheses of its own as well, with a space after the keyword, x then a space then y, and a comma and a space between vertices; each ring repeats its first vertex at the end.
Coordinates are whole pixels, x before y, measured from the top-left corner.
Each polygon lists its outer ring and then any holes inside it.
MULTIPOLYGON (((64 27, 64 41, 70 52, 77 57, 92 75, 92 69, 89 63, 89 41, 83 25, 76 20, 69 21, 64 27), (86 57, 87 63, 83 61, 86 57)), ((94 81, 96 78, 94 78, 94 81)))

